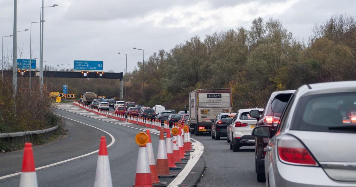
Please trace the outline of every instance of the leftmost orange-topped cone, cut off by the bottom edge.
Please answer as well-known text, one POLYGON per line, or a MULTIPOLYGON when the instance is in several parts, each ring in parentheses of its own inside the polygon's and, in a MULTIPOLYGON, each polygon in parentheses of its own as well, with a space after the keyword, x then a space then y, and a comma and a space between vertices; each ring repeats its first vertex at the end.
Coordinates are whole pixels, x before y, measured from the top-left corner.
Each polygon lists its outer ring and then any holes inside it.
POLYGON ((20 187, 37 187, 35 160, 33 159, 31 143, 25 143, 23 150, 20 187))

